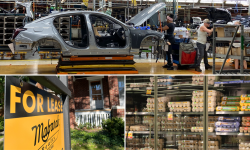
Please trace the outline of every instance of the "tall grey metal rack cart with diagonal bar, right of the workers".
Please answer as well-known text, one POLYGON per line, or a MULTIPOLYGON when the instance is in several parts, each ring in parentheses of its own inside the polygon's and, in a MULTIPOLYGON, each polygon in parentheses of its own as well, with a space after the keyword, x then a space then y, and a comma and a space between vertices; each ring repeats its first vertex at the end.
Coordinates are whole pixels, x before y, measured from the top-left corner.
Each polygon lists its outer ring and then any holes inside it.
POLYGON ((248 74, 249 70, 243 69, 243 60, 250 60, 249 56, 244 56, 244 44, 246 44, 247 42, 250 41, 249 37, 245 37, 244 36, 244 26, 239 26, 239 25, 225 25, 225 24, 213 24, 213 74, 248 74), (230 35, 228 35, 228 37, 216 37, 216 29, 218 27, 223 27, 224 29, 226 27, 235 27, 235 31, 233 34, 233 37, 231 37, 230 35), (239 28, 241 29, 241 33, 240 33, 240 37, 236 37, 237 32, 239 30, 239 28), (232 49, 232 45, 235 41, 239 41, 240 45, 241 45, 241 50, 240 50, 240 55, 236 56, 236 55, 229 55, 231 53, 231 49, 232 49), (226 51, 226 54, 218 54, 215 52, 216 49, 216 43, 229 43, 229 47, 228 50, 226 51), (221 69, 219 71, 215 70, 215 58, 216 57, 220 57, 220 58, 224 58, 223 64, 221 66, 221 69), (228 58, 232 58, 232 59, 239 59, 240 60, 240 69, 233 69, 233 70, 223 70, 225 63, 227 61, 228 58))

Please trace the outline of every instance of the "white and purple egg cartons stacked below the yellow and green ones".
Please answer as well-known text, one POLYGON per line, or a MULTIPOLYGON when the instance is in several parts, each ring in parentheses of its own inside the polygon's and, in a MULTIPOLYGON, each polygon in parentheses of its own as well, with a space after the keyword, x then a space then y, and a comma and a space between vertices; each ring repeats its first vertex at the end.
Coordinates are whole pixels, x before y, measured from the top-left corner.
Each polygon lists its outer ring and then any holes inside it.
POLYGON ((240 117, 220 116, 215 126, 216 132, 239 132, 240 117))

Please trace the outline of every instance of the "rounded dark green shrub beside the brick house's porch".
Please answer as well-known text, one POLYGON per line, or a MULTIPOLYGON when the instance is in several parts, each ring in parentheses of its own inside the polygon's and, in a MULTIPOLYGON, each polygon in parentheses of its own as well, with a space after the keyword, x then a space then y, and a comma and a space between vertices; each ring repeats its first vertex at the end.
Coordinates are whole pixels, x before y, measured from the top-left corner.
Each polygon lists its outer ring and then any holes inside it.
POLYGON ((111 136, 124 137, 124 121, 122 118, 113 117, 112 119, 103 120, 102 128, 111 136))

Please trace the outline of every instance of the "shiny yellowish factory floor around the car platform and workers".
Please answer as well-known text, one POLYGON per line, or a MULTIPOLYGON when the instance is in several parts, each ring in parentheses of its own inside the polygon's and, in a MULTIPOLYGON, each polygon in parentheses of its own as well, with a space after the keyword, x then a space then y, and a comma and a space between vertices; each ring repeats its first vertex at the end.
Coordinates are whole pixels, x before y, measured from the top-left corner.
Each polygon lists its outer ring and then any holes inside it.
MULTIPOLYGON (((153 57, 153 56, 152 56, 153 57)), ((59 57, 58 57, 59 58, 59 57)), ((39 59, 36 55, 26 55, 25 60, 20 60, 18 56, 14 60, 5 58, 0 60, 0 72, 1 74, 56 74, 56 66, 58 58, 54 59, 39 59)), ((134 56, 135 68, 139 74, 212 74, 212 69, 205 72, 196 72, 194 68, 187 68, 185 70, 179 70, 177 65, 174 66, 174 70, 167 70, 162 68, 164 60, 159 59, 156 63, 154 58, 146 57, 146 53, 142 53, 142 56, 134 56)), ((222 60, 216 59, 216 70, 219 70, 222 65, 222 60)), ((210 65, 212 65, 212 58, 209 59, 210 65)), ((226 63, 225 69, 234 69, 231 62, 226 63)))

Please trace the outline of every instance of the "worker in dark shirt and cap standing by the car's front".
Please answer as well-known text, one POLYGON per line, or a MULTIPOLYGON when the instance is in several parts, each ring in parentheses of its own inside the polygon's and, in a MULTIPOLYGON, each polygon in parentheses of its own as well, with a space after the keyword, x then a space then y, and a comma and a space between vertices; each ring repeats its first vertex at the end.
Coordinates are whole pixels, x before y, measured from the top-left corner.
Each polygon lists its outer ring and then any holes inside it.
MULTIPOLYGON (((165 31, 165 40, 168 43, 168 51, 167 51, 167 61, 168 63, 163 66, 163 68, 167 68, 168 70, 173 70, 173 57, 172 57, 172 45, 174 44, 174 28, 175 25, 173 23, 174 15, 170 14, 167 16, 167 24, 162 28, 162 31, 165 31)), ((158 30, 161 30, 158 28, 158 30)))

